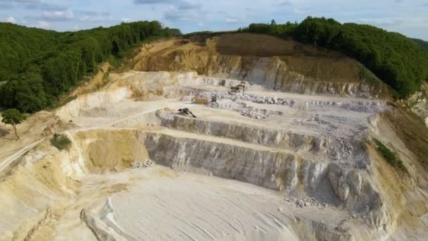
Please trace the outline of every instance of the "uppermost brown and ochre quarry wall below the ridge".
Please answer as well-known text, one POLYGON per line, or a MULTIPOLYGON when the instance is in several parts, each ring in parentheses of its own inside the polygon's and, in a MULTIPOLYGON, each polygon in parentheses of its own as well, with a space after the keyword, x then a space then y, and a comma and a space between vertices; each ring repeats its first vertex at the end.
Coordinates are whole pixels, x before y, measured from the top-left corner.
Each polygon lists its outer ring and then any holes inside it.
POLYGON ((370 71, 351 58, 275 37, 220 35, 152 46, 142 48, 134 58, 134 70, 194 70, 305 94, 388 95, 384 85, 369 85, 366 73, 370 71))

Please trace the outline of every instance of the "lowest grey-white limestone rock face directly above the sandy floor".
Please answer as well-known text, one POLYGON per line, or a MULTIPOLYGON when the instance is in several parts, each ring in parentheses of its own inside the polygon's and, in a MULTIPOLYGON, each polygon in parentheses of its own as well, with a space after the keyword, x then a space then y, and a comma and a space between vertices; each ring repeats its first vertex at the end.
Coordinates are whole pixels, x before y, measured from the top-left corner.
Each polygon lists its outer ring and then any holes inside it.
POLYGON ((151 159, 178 171, 212 173, 275 190, 293 187, 296 173, 294 154, 150 132, 144 144, 151 159))

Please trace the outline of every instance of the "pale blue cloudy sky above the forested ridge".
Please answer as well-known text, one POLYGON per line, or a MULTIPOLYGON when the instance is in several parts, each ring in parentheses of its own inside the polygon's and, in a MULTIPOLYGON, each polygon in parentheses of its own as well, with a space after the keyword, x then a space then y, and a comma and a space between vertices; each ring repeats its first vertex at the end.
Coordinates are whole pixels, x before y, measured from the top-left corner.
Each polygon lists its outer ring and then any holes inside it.
POLYGON ((367 23, 428 40, 428 0, 0 0, 0 21, 73 31, 159 20, 182 32, 234 30, 306 16, 367 23))

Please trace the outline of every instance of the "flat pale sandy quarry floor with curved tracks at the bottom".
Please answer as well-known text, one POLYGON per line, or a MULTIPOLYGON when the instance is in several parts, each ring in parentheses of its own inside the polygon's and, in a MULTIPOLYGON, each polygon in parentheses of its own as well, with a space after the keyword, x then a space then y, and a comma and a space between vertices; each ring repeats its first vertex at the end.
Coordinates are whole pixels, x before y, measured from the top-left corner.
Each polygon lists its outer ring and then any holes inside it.
POLYGON ((99 222, 96 228, 106 225, 127 240, 294 240, 291 214, 330 225, 346 217, 315 207, 311 217, 277 192, 160 166, 92 175, 85 183, 103 182, 127 191, 85 211, 99 222))

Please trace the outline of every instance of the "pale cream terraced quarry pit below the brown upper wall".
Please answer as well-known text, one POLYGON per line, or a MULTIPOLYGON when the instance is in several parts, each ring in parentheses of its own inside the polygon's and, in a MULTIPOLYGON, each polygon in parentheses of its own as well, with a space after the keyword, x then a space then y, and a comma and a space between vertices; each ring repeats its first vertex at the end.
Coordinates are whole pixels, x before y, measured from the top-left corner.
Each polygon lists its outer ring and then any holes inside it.
POLYGON ((370 87, 301 78, 279 88, 257 65, 245 76, 152 70, 177 54, 156 48, 162 56, 137 56, 96 92, 34 115, 72 144, 29 140, 1 160, 1 239, 423 240, 427 193, 410 152, 396 181, 370 144, 405 149, 382 119, 393 107, 370 87))

